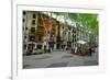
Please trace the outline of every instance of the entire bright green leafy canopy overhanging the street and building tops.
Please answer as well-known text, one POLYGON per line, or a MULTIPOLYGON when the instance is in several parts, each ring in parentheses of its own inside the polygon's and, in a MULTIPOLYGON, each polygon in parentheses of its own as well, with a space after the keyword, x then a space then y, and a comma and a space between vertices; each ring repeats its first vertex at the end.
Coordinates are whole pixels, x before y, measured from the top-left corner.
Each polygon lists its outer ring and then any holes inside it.
POLYGON ((53 12, 55 15, 64 15, 65 19, 69 19, 72 22, 78 24, 77 27, 84 27, 87 31, 90 31, 91 34, 98 34, 98 14, 95 13, 63 13, 63 12, 53 12))

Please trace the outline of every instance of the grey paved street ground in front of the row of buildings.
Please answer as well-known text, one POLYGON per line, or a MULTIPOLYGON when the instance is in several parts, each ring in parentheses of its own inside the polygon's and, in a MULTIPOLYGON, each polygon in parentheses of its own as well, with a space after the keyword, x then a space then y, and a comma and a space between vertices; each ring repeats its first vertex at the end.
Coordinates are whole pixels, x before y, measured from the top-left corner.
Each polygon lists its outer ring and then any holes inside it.
POLYGON ((23 56, 23 68, 53 68, 53 67, 75 67, 75 66, 97 66, 98 54, 92 56, 77 56, 69 52, 53 52, 43 55, 23 56))

